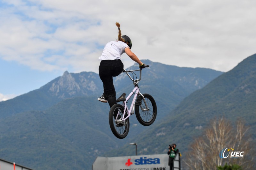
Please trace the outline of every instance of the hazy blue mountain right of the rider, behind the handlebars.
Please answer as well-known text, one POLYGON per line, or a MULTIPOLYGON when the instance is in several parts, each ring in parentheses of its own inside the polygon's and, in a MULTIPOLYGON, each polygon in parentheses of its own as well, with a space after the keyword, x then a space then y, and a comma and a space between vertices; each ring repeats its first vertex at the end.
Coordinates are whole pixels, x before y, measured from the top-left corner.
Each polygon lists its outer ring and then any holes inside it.
MULTIPOLYGON (((148 64, 149 68, 142 70, 139 87, 142 93, 150 93, 156 100, 158 113, 161 113, 157 115, 156 121, 161 120, 190 93, 201 89, 223 73, 212 69, 177 67, 150 60, 142 61, 148 64)), ((138 69, 137 64, 126 70, 136 69, 138 69)), ((123 92, 128 95, 134 88, 132 81, 125 73, 114 79, 114 82, 116 96, 123 92)))

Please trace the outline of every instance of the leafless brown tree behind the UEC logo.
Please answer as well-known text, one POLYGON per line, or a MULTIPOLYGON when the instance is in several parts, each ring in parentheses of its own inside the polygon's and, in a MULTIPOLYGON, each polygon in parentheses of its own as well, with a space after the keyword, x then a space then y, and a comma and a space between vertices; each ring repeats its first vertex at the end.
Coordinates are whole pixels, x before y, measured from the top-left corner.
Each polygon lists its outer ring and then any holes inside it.
POLYGON ((187 160, 185 164, 189 169, 216 169, 217 166, 223 166, 225 163, 238 164, 244 169, 251 169, 253 163, 252 145, 246 132, 242 120, 236 122, 236 128, 231 126, 231 122, 224 119, 214 119, 210 121, 210 125, 205 129, 203 135, 195 139, 189 147, 187 160), (236 148, 236 151, 243 151, 246 157, 241 159, 223 159, 220 158, 220 151, 224 148, 236 148))

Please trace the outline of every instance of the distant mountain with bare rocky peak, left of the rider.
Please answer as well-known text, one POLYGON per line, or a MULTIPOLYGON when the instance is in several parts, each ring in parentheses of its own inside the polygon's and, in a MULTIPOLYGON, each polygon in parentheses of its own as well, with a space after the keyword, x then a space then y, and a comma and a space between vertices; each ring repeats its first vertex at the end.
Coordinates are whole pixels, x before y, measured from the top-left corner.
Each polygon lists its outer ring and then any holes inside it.
POLYGON ((0 118, 29 110, 44 110, 63 99, 100 95, 102 82, 93 72, 68 73, 14 99, 0 102, 0 118))

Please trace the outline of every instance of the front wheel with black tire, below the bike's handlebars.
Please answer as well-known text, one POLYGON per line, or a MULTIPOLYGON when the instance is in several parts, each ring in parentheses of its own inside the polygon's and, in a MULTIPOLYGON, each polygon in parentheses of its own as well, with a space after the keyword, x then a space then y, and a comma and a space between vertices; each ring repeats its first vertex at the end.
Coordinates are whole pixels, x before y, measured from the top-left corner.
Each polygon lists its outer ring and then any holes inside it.
POLYGON ((145 98, 145 101, 147 103, 149 110, 142 110, 146 109, 146 105, 144 100, 142 99, 142 96, 139 96, 138 99, 141 99, 141 105, 135 106, 135 115, 137 117, 137 120, 140 122, 140 124, 144 126, 149 126, 156 120, 156 101, 154 98, 149 94, 142 94, 145 98))

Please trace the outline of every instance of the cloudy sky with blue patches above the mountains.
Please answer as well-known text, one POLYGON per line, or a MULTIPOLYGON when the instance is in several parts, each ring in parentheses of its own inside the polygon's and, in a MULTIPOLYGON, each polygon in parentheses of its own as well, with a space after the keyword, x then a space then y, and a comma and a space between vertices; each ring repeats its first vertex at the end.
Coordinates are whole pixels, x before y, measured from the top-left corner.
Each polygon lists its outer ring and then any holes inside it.
POLYGON ((255 0, 0 0, 0 101, 98 73, 116 22, 139 59, 227 72, 256 53, 255 19, 255 0))

